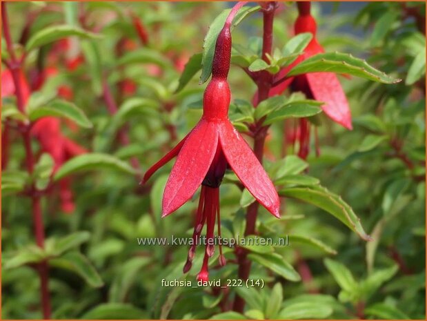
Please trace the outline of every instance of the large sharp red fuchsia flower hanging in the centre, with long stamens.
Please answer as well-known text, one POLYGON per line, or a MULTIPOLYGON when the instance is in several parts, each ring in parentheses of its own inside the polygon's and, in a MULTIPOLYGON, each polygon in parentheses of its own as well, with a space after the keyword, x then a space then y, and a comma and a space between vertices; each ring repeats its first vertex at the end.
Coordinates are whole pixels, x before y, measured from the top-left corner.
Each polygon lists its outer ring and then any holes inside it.
MULTIPOLYGON (((208 245, 205 249, 198 280, 208 280, 208 260, 214 253, 213 242, 215 220, 218 218, 218 234, 221 235, 219 214, 219 185, 230 166, 248 191, 272 215, 279 217, 279 196, 267 173, 243 137, 228 119, 230 88, 227 76, 230 69, 231 32, 230 25, 237 10, 244 3, 232 9, 224 28, 219 33, 212 63, 212 79, 203 95, 203 115, 199 123, 175 148, 148 169, 143 182, 151 177, 161 166, 177 156, 172 172, 163 193, 162 217, 169 215, 186 203, 197 188, 201 186, 199 207, 197 209, 193 244, 188 251, 187 262, 183 268, 186 273, 192 266, 195 244, 203 225, 206 223, 208 245), (209 240, 211 240, 209 242, 209 240)), ((219 246, 219 263, 226 260, 219 246)))

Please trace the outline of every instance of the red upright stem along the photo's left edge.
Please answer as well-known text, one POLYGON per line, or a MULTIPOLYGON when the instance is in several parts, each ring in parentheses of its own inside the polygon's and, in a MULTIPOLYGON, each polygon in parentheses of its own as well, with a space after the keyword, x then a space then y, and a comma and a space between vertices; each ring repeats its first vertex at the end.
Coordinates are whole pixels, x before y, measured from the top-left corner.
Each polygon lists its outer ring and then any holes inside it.
MULTIPOLYGON (((6 48, 10 55, 10 72, 12 73, 12 78, 14 82, 15 95, 17 97, 18 109, 25 113, 25 105, 23 99, 23 90, 21 88, 21 61, 17 61, 17 57, 14 55, 12 38, 10 37, 10 29, 8 23, 8 14, 6 12, 6 3, 1 3, 1 22, 3 27, 3 33, 6 40, 6 48)), ((21 132, 23 136, 23 144, 26 150, 26 159, 27 159, 27 170, 31 175, 34 171, 34 155, 31 149, 31 136, 30 136, 30 126, 21 124, 21 132)), ((36 193, 36 188, 34 184, 31 186, 31 200, 32 200, 32 220, 34 224, 34 237, 36 243, 39 247, 44 247, 44 226, 43 226, 43 214, 41 211, 40 204, 40 195, 36 193)), ((40 284, 41 284, 41 308, 43 311, 43 318, 50 319, 50 295, 48 289, 48 280, 49 280, 49 269, 48 263, 43 261, 37 264, 37 271, 39 272, 40 284)))

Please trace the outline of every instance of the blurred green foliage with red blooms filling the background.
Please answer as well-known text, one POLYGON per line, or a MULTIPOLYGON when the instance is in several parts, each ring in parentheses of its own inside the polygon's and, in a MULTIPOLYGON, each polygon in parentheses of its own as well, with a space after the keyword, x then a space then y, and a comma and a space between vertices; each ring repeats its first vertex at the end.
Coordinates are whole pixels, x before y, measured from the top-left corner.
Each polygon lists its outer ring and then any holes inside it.
MULTIPOLYGON (((423 2, 312 5, 317 38, 326 52, 349 52, 403 79, 386 85, 340 77, 354 129, 346 130, 321 115, 317 119, 320 155, 312 151, 307 164, 295 163, 341 195, 373 241, 364 242, 320 208, 286 199, 280 221, 263 208, 258 226, 265 237, 289 235, 290 246, 275 251, 301 280, 292 282, 274 269, 252 264, 251 278, 263 279, 264 289, 160 286, 162 278, 194 281, 201 250, 195 267, 183 275, 187 246, 139 246, 137 237, 190 236, 197 204, 188 202, 161 220, 161 195, 172 162, 146 186, 139 185, 139 179, 201 116, 205 86, 198 85, 198 77, 174 92, 183 66, 201 52, 208 26, 229 6, 225 2, 8 3, 12 39, 16 43, 21 39, 18 52, 39 30, 59 24, 102 36, 73 36, 66 45, 61 46, 61 40, 31 50, 24 71, 34 83, 37 72, 56 68, 33 95, 48 96, 68 86, 69 100, 93 126, 63 125, 64 135, 91 153, 109 154, 121 162, 96 159, 99 163, 90 171, 68 169, 75 199, 72 213, 61 212, 56 187, 42 199, 46 235, 56 253, 50 260, 52 318, 241 318, 224 311, 224 302, 239 293, 246 299, 246 318, 424 319, 423 2), (146 43, 135 19, 146 30, 146 43), (120 166, 128 167, 115 171, 120 166)), ((292 37, 296 17, 294 3, 280 4, 275 48, 292 37)), ((261 15, 252 14, 233 31, 233 43, 248 46, 261 30, 261 15)), ((2 47, 2 58, 5 52, 2 47)), ((252 99, 256 87, 241 68, 232 66, 229 79, 233 99, 252 99)), ((8 104, 13 105, 13 99, 3 99, 3 115, 8 104)), ((292 127, 292 120, 286 126, 292 127)), ((37 261, 28 258, 36 252, 31 247, 30 201, 19 187, 7 184, 16 182, 25 153, 17 133, 12 132, 10 139, 10 158, 2 173, 2 318, 41 318, 39 278, 31 267, 37 261)), ((284 139, 283 124, 273 124, 266 146, 267 168, 295 153, 284 139)), ((39 149, 36 140, 33 148, 39 149)), ((241 190, 224 182, 224 237, 243 231, 245 212, 240 204, 241 190)), ((237 278, 232 252, 226 256, 228 264, 212 269, 212 279, 237 278)))

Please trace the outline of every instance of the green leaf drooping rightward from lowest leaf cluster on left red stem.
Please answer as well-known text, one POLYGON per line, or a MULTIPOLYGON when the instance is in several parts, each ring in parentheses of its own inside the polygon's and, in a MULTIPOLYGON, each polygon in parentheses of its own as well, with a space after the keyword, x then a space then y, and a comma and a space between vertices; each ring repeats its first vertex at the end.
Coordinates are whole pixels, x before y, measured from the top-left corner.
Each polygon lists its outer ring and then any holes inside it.
POLYGON ((49 260, 51 266, 59 269, 66 269, 80 275, 92 287, 103 286, 95 268, 90 264, 86 256, 79 252, 68 252, 61 257, 49 260))

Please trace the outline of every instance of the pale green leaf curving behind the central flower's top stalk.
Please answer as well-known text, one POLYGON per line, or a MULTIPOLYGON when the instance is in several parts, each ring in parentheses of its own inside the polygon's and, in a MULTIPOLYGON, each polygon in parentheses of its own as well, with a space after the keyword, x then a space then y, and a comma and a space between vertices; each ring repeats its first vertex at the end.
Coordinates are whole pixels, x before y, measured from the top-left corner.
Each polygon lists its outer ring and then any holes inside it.
MULTIPOLYGON (((237 26, 245 17, 248 16, 248 14, 258 11, 259 8, 259 6, 245 6, 240 8, 239 12, 237 12, 235 15, 235 19, 232 21, 231 29, 237 26)), ((224 28, 224 23, 226 22, 230 11, 231 9, 224 10, 217 18, 215 18, 215 20, 209 26, 208 33, 203 40, 203 55, 201 59, 202 68, 199 84, 205 83, 212 73, 212 61, 215 53, 215 44, 217 43, 219 32, 221 32, 222 28, 224 28)))

